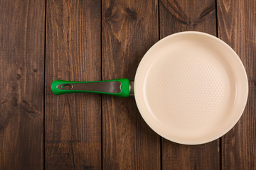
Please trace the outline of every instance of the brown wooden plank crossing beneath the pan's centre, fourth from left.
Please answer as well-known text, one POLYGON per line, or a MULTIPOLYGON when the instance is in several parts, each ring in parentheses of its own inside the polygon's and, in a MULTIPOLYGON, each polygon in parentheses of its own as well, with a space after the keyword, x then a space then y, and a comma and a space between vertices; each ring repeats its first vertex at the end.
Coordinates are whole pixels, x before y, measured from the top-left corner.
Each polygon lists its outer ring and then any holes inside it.
MULTIPOLYGON (((160 38, 185 30, 216 35, 215 1, 161 0, 160 38)), ((162 140, 163 169, 220 169, 219 142, 205 145, 178 145, 162 140)))

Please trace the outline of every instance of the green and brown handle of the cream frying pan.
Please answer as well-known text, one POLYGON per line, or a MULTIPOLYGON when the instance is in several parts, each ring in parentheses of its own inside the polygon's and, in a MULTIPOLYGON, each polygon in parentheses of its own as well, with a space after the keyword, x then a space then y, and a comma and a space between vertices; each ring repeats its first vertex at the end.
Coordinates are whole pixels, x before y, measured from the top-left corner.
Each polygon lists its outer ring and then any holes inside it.
POLYGON ((129 79, 105 81, 65 81, 56 79, 51 85, 51 90, 55 95, 87 92, 128 97, 130 86, 129 79))

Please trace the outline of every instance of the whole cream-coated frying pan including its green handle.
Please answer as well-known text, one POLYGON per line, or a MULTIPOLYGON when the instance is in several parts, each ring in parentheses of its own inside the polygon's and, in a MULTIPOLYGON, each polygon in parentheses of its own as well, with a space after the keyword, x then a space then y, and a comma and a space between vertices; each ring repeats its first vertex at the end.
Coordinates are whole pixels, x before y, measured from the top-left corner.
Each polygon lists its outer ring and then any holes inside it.
POLYGON ((181 32, 156 42, 139 63, 134 82, 55 80, 54 94, 134 95, 156 133, 185 145, 225 135, 238 122, 248 95, 247 74, 235 51, 201 32, 181 32))

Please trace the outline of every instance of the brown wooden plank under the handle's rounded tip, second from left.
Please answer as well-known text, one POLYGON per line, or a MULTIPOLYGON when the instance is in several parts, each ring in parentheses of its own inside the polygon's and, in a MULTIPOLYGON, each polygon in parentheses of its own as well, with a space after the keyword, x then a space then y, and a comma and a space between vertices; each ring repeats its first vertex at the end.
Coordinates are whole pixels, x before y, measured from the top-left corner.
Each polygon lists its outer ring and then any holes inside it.
POLYGON ((101 96, 55 96, 55 79, 101 79, 100 0, 47 1, 46 169, 100 169, 101 96))

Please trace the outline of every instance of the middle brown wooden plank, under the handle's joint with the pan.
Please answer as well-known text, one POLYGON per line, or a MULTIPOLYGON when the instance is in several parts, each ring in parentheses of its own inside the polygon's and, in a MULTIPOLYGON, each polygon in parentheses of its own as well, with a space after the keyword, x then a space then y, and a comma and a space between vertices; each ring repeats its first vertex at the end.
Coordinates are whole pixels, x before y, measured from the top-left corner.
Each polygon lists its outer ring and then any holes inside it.
MULTIPOLYGON (((102 1, 102 79, 134 80, 158 40, 157 1, 102 1)), ((102 97, 103 169, 160 169, 160 138, 134 97, 102 97)))

